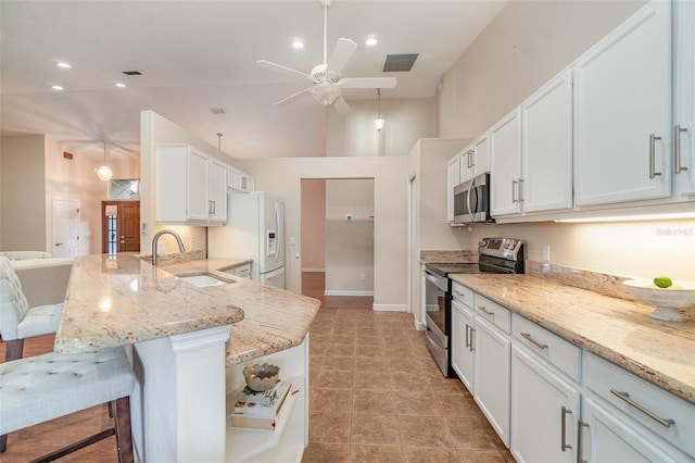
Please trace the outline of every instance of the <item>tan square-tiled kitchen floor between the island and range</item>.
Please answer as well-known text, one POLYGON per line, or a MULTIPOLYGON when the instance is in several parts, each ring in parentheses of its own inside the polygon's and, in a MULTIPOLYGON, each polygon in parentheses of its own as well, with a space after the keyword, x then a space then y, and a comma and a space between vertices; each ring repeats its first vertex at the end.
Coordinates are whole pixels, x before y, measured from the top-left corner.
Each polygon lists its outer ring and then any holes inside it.
POLYGON ((514 461, 463 384, 442 376, 412 315, 314 296, 304 462, 514 461))

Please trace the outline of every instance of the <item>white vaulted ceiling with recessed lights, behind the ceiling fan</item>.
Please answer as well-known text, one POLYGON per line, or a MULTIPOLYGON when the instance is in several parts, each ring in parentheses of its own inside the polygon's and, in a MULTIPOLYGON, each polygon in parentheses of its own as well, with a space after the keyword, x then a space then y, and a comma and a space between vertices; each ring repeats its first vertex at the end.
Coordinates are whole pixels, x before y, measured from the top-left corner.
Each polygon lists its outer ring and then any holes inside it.
MULTIPOLYGON (((328 55, 338 38, 351 38, 358 48, 343 77, 394 76, 383 99, 433 98, 504 2, 334 0, 328 55), (365 46, 369 36, 378 45, 365 46), (382 71, 396 53, 419 53, 412 71, 382 71)), ((233 157, 324 154, 333 109, 311 97, 276 108, 308 83, 256 66, 268 60, 309 73, 323 62, 319 0, 2 0, 0 21, 2 135, 47 134, 93 155, 105 140, 110 155, 137 157, 140 111, 152 110, 213 146, 224 134, 222 148, 233 157), (294 38, 305 47, 293 49, 294 38)), ((348 88, 343 96, 350 103, 376 91, 348 88)))

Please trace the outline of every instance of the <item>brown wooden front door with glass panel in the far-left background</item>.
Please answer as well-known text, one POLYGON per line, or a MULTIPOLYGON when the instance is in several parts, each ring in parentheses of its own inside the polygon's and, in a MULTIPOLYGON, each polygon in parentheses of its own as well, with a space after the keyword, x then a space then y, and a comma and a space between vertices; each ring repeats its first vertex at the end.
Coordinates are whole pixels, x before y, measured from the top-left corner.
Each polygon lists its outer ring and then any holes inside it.
POLYGON ((140 201, 101 202, 101 252, 140 252, 140 201))

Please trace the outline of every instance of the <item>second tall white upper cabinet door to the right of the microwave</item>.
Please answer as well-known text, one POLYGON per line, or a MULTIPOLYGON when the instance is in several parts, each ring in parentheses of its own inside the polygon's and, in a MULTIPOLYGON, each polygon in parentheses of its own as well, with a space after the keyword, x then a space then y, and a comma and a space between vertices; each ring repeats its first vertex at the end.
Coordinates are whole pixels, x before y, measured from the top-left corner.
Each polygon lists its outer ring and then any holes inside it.
POLYGON ((572 72, 521 105, 523 212, 572 208, 572 72))

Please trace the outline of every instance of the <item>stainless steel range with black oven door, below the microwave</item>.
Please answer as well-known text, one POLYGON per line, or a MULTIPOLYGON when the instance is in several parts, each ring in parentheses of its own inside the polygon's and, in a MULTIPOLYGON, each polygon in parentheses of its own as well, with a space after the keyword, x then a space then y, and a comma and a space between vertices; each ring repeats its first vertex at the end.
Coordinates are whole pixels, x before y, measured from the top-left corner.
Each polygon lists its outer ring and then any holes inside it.
POLYGON ((478 243, 478 263, 426 265, 425 301, 427 347, 446 377, 451 366, 452 280, 456 273, 525 273, 523 241, 514 238, 483 238, 478 243))

